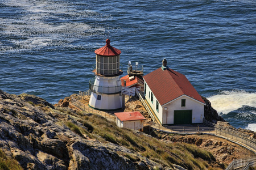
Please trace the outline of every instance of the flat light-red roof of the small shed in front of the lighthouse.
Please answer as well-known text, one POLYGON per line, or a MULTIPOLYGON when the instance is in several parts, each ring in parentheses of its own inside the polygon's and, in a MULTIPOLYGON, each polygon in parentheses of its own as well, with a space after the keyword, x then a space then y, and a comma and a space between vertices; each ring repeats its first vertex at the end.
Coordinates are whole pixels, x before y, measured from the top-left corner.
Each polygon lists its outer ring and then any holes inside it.
POLYGON ((115 113, 115 116, 119 118, 121 121, 133 121, 133 120, 146 120, 144 116, 137 112, 119 112, 115 113))

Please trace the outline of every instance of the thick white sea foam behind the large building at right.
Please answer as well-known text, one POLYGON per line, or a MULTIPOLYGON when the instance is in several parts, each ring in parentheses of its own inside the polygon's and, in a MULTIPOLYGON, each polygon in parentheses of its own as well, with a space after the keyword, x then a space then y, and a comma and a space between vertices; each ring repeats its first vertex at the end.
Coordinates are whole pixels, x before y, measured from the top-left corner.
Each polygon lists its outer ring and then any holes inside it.
POLYGON ((256 93, 246 91, 222 91, 220 94, 208 97, 212 107, 218 113, 228 114, 242 108, 243 105, 256 108, 256 93))

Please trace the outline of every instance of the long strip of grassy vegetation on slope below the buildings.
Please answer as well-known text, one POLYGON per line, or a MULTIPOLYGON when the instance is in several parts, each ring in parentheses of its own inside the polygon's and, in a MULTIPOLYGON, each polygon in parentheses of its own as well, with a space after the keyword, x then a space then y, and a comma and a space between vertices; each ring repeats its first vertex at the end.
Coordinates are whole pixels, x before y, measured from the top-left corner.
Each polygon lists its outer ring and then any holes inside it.
MULTIPOLYGON (((124 146, 163 166, 172 167, 172 164, 177 164, 186 169, 216 169, 210 166, 210 164, 217 164, 214 156, 194 145, 164 142, 144 133, 118 128, 114 122, 109 122, 104 117, 94 114, 80 113, 77 117, 82 126, 72 122, 67 122, 66 125, 81 136, 86 134, 89 138, 95 138, 100 142, 108 141, 124 146)), ((136 155, 123 156, 132 162, 139 160, 136 155)))

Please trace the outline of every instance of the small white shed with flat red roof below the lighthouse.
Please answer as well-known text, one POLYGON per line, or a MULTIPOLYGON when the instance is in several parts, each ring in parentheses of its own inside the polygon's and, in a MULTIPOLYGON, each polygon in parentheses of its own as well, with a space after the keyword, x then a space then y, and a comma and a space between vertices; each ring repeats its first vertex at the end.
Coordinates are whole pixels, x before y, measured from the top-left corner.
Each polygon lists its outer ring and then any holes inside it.
POLYGON ((143 131, 143 124, 146 118, 138 111, 115 113, 115 116, 117 116, 117 126, 119 128, 143 131))

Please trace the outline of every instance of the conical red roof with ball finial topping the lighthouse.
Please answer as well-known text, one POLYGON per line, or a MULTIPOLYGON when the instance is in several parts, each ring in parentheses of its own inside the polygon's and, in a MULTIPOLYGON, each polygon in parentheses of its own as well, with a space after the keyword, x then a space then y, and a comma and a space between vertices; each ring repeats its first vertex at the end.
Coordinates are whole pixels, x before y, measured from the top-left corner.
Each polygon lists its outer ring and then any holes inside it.
POLYGON ((114 48, 110 45, 110 40, 106 39, 106 45, 102 46, 94 51, 94 53, 101 55, 101 56, 117 56, 121 54, 121 50, 114 48))

